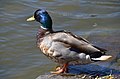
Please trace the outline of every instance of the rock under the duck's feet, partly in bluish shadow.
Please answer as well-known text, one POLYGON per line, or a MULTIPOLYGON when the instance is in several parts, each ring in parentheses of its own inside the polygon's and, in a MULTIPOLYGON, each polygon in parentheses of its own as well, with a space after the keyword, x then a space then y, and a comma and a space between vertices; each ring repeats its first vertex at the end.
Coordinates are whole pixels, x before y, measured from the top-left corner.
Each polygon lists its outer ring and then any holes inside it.
POLYGON ((120 71, 95 64, 69 66, 69 73, 40 75, 36 79, 119 79, 120 71))

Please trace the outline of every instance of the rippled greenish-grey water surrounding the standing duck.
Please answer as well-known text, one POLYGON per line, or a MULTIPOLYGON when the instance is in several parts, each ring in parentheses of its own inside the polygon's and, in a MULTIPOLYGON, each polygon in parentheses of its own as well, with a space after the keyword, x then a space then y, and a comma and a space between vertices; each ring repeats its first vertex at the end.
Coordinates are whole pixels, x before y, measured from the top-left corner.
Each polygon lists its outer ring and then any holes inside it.
POLYGON ((39 23, 26 22, 38 8, 49 12, 55 30, 108 49, 113 59, 100 64, 120 70, 120 0, 1 0, 0 79, 35 79, 56 65, 36 47, 39 23))

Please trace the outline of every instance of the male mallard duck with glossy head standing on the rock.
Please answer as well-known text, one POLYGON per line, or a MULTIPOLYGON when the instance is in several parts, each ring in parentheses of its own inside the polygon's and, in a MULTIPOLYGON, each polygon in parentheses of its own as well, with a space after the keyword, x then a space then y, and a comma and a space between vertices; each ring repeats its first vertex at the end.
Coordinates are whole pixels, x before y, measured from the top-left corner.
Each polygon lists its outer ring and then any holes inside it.
POLYGON ((69 64, 88 64, 112 57, 105 55, 105 49, 94 46, 86 39, 71 32, 54 31, 52 19, 43 9, 36 10, 34 16, 27 19, 27 21, 32 20, 41 23, 37 34, 38 48, 48 58, 62 64, 62 67, 58 67, 55 72, 52 72, 54 74, 66 72, 69 64))

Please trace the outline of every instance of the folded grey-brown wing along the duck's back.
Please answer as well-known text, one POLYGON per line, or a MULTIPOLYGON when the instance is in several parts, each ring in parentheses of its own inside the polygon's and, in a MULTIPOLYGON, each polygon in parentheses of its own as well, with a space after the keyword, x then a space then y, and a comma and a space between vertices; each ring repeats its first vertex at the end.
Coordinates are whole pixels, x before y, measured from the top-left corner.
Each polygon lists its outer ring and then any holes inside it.
POLYGON ((86 54, 97 52, 103 52, 104 54, 104 52, 106 51, 105 49, 90 44, 89 41, 87 41, 83 37, 76 36, 71 32, 58 32, 53 39, 54 41, 65 43, 65 45, 67 44, 68 46, 86 54))

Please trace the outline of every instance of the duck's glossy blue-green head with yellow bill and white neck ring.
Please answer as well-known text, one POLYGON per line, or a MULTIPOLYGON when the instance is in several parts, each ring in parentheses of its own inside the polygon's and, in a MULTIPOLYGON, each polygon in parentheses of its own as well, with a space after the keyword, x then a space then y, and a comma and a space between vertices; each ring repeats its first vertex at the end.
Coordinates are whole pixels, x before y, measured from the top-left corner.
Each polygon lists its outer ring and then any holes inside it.
POLYGON ((52 19, 47 11, 38 9, 35 11, 34 16, 27 19, 27 21, 36 20, 41 23, 41 28, 45 30, 52 29, 52 19))

